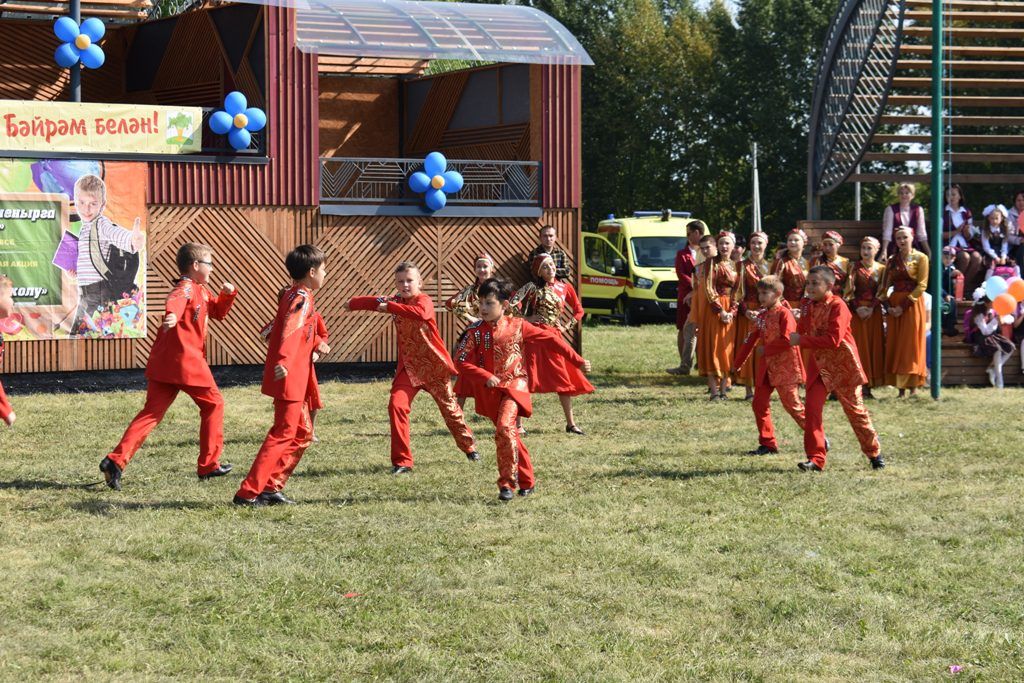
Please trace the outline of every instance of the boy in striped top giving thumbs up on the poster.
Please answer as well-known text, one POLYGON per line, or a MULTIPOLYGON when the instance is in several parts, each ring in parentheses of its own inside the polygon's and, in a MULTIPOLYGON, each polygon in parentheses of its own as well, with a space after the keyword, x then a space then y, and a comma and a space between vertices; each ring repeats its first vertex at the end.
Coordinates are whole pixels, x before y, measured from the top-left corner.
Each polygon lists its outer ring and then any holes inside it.
POLYGON ((73 273, 78 276, 79 293, 73 331, 79 330, 82 322, 91 321, 97 308, 117 301, 134 285, 135 273, 112 262, 113 248, 138 254, 145 245, 140 218, 135 218, 132 229, 125 229, 103 215, 105 206, 106 185, 100 177, 83 175, 75 182, 75 208, 82 227, 73 273))

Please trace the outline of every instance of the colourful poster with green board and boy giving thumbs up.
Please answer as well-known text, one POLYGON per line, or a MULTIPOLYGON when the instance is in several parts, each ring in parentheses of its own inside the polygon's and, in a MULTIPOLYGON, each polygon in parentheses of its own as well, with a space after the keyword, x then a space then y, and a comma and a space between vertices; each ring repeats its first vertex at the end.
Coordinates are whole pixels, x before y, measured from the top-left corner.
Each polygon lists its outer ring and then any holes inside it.
POLYGON ((6 339, 145 337, 146 164, 0 159, 6 339))

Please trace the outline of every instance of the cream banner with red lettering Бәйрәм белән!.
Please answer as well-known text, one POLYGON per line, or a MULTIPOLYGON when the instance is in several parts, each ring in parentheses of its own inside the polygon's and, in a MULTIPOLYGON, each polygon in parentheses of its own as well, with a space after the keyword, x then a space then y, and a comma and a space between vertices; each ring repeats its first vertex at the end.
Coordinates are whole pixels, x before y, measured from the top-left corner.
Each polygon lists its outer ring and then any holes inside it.
POLYGON ((0 99, 0 152, 187 155, 203 142, 203 110, 0 99))

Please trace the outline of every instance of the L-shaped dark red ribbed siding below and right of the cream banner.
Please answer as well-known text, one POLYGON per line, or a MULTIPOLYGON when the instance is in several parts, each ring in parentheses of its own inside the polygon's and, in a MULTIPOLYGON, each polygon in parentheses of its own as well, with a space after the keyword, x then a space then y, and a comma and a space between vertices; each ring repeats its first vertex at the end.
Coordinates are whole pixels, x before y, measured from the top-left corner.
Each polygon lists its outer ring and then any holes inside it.
POLYGON ((319 200, 316 55, 295 46, 295 13, 265 7, 266 166, 151 164, 151 204, 312 206, 319 200))

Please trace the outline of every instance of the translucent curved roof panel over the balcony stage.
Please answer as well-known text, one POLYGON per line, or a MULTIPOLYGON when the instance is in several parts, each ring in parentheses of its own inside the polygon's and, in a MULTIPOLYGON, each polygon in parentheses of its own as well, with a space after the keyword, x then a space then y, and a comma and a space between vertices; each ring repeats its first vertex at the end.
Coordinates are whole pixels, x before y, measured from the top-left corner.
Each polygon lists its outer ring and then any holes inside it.
POLYGON ((519 5, 410 0, 243 0, 295 7, 304 52, 593 65, 565 27, 519 5))

